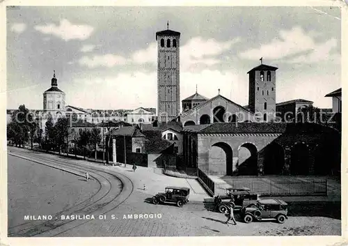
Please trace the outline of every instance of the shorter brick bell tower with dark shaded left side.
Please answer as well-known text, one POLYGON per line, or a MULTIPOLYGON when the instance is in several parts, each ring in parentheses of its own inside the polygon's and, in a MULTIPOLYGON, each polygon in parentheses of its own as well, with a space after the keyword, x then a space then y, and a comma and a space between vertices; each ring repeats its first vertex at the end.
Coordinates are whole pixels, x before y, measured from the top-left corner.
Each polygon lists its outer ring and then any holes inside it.
POLYGON ((276 70, 278 68, 262 63, 248 72, 249 110, 255 120, 269 122, 276 118, 276 70))

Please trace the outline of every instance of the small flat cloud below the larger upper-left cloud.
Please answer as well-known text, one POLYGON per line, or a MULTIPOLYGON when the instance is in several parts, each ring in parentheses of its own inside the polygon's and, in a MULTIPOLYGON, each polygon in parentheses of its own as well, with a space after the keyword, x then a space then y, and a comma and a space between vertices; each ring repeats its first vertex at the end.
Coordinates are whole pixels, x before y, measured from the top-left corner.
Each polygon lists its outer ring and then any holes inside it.
POLYGON ((115 54, 105 54, 101 56, 82 56, 79 59, 79 64, 81 66, 87 66, 88 68, 97 68, 100 66, 112 68, 113 66, 125 65, 127 59, 123 56, 118 56, 115 54))

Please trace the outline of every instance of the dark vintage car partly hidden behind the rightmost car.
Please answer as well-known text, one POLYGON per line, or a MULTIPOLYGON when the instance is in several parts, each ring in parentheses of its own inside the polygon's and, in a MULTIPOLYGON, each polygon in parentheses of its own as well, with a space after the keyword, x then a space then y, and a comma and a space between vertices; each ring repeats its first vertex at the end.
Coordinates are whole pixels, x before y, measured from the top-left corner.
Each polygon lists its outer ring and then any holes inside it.
POLYGON ((255 204, 259 198, 258 194, 247 187, 230 187, 226 190, 226 195, 214 197, 215 208, 220 213, 226 213, 228 203, 232 205, 234 210, 241 210, 250 204, 255 204))

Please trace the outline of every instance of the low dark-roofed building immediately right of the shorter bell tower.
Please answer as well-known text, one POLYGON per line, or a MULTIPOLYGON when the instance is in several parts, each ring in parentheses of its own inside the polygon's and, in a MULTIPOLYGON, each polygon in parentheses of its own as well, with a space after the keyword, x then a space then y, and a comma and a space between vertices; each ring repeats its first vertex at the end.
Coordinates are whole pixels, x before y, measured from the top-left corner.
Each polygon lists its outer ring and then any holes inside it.
POLYGON ((278 102, 276 104, 277 118, 281 121, 292 122, 299 109, 313 105, 312 101, 304 99, 295 99, 286 102, 278 102))

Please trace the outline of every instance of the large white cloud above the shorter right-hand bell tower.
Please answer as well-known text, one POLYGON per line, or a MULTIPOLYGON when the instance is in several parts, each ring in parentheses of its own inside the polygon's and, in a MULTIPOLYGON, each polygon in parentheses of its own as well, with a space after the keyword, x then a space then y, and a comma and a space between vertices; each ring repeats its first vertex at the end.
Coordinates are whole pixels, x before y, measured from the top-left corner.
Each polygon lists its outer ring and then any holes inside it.
MULTIPOLYGON (((316 33, 314 36, 318 36, 318 34, 316 33)), ((325 43, 316 43, 313 36, 296 26, 290 31, 281 30, 279 37, 271 40, 271 43, 261 45, 258 49, 248 49, 239 56, 251 60, 264 57, 284 59, 283 61, 287 63, 314 63, 328 59, 335 47, 337 47, 337 40, 332 38, 325 43)))

